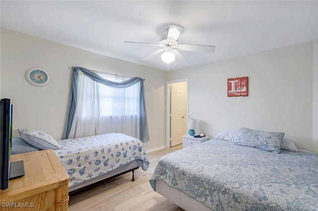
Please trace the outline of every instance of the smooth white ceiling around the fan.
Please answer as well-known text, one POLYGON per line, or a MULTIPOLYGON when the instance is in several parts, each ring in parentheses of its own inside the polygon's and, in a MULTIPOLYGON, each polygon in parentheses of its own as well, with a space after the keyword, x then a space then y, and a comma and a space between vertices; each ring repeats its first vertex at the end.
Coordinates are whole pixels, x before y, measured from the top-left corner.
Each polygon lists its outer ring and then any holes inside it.
MULTIPOLYGON (((311 1, 0 1, 1 27, 87 51, 167 70, 159 43, 169 24, 180 44, 216 46, 215 53, 182 52, 176 69, 312 41, 318 38, 318 0, 311 1)), ((76 64, 74 64, 76 65, 76 64)), ((173 63, 169 68, 173 68, 173 63)))

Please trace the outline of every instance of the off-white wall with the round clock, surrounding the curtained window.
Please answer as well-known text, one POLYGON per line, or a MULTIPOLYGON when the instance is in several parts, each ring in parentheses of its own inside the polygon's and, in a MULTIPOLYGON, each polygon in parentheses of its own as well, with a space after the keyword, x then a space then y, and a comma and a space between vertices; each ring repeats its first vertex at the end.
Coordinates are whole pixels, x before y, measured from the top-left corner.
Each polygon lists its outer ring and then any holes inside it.
POLYGON ((71 84, 71 66, 145 78, 151 140, 146 149, 163 146, 166 72, 91 53, 26 34, 1 29, 0 96, 13 100, 13 129, 33 128, 62 137, 71 84), (49 71, 51 82, 35 87, 25 79, 31 67, 49 71))

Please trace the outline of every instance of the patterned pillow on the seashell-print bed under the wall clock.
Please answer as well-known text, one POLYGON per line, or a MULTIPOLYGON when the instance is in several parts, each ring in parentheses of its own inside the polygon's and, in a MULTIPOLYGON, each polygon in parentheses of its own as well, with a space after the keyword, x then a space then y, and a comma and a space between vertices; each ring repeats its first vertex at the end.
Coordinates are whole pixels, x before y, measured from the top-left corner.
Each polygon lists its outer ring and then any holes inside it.
POLYGON ((60 150, 60 145, 56 142, 56 140, 42 132, 36 131, 33 129, 17 129, 20 134, 20 137, 27 142, 28 144, 39 148, 40 150, 60 150))

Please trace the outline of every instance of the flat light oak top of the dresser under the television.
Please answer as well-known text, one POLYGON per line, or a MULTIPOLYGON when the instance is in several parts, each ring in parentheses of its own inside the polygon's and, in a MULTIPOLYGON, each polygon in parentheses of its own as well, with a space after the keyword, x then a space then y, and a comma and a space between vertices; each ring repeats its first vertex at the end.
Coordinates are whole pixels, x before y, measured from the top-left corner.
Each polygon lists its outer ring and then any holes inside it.
POLYGON ((9 181, 0 191, 0 202, 13 202, 69 183, 69 175, 53 150, 11 156, 11 162, 23 160, 25 175, 9 181))

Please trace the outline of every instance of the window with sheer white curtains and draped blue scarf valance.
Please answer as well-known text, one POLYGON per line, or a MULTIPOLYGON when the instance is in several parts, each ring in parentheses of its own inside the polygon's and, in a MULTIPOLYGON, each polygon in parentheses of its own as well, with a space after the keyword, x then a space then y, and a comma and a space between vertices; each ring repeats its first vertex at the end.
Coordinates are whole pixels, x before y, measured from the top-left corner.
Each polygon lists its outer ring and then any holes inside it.
POLYGON ((74 67, 70 96, 63 138, 124 133, 149 141, 144 83, 140 77, 129 79, 74 67))

